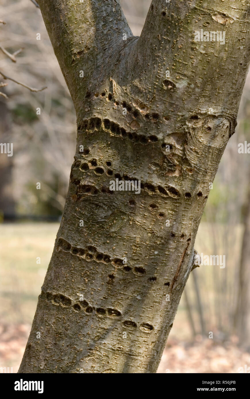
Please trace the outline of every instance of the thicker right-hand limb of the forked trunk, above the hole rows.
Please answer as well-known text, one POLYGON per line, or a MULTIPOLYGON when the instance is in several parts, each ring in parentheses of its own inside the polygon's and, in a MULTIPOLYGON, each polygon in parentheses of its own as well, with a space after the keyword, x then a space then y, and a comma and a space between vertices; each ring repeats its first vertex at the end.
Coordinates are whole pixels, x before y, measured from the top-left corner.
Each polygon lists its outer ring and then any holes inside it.
POLYGON ((230 0, 198 3, 152 1, 129 56, 127 69, 137 66, 129 80, 149 89, 152 107, 235 119, 250 59, 249 2, 236 0, 234 7, 230 0), (195 41, 194 32, 201 29, 225 32, 225 43, 195 41))

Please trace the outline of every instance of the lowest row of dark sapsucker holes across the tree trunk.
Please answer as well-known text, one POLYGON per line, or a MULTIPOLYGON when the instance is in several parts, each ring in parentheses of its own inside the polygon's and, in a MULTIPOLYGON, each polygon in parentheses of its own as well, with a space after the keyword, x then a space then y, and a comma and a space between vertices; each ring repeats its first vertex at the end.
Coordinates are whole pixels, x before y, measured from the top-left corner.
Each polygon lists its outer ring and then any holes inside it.
MULTIPOLYGON (((40 298, 42 298, 44 300, 48 300, 55 305, 61 305, 63 307, 69 307, 72 305, 71 299, 62 294, 52 294, 52 292, 42 291, 40 294, 40 298)), ((91 314, 95 310, 95 312, 99 316, 108 316, 108 317, 112 317, 112 318, 121 316, 121 312, 117 309, 113 309, 113 308, 105 309, 105 308, 101 308, 101 307, 95 308, 95 306, 90 306, 89 303, 85 299, 79 300, 78 302, 74 303, 72 307, 75 310, 75 312, 80 312, 83 309, 85 313, 91 314)), ((125 320, 123 322, 123 325, 127 328, 137 328, 137 324, 131 320, 125 320)), ((139 328, 145 332, 151 332, 154 329, 153 326, 148 323, 141 323, 139 328)))

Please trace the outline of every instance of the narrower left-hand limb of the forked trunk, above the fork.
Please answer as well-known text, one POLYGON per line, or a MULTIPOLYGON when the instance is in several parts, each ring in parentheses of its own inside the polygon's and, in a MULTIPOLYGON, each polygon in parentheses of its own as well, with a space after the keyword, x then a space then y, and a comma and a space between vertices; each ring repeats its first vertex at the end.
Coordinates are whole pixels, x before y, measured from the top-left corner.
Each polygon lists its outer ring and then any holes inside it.
MULTIPOLYGON (((74 104, 85 99, 96 71, 103 73, 123 34, 132 37, 116 0, 38 0, 54 51, 74 104), (80 71, 84 77, 79 77, 80 71)), ((110 65, 109 65, 110 66, 110 65)))

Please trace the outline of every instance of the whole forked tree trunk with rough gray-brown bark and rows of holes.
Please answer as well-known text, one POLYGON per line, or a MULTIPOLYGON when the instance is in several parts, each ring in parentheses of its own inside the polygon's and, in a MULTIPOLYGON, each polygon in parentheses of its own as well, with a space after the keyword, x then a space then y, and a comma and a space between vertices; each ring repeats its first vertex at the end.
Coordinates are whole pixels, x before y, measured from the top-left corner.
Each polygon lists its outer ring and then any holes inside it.
POLYGON ((39 4, 75 105, 77 146, 19 372, 154 373, 236 126, 250 4, 153 0, 140 38, 116 0, 39 4), (203 28, 225 31, 225 45, 195 42, 203 28), (140 180, 141 193, 110 192, 115 178, 140 180))

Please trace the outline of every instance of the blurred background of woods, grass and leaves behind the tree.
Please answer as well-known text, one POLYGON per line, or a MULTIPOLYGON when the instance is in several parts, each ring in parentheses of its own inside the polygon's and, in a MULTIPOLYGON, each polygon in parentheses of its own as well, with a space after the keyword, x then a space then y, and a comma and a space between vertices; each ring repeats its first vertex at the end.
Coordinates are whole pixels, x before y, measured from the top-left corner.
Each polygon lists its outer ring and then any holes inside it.
MULTIPOLYGON (((121 0, 134 35, 140 35, 150 3, 121 0)), ((0 87, 0 142, 14 149, 12 157, 0 154, 0 367, 17 372, 60 224, 76 123, 39 8, 30 0, 0 0, 0 32, 0 72, 30 87, 48 86, 35 93, 0 77, 8 82, 0 87)), ((245 140, 250 142, 250 75, 195 245, 204 255, 225 255, 226 267, 201 266, 190 274, 159 373, 250 367, 250 154, 238 153, 245 140)))

